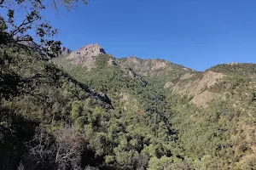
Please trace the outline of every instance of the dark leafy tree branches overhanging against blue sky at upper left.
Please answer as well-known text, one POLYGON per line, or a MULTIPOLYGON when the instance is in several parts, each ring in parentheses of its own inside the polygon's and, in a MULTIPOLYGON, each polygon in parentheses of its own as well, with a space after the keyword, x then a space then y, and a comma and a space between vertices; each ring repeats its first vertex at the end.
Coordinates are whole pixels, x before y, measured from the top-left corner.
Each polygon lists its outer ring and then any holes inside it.
MULTIPOLYGON (((88 0, 82 0, 84 4, 88 0)), ((0 15, 0 43, 9 41, 21 43, 30 48, 36 48, 49 57, 55 57, 60 51, 61 42, 54 41, 53 37, 58 30, 50 26, 42 13, 53 7, 64 6, 67 10, 78 5, 79 0, 53 0, 52 3, 44 0, 0 0, 0 8, 5 9, 5 16, 0 15), (18 9, 22 11, 18 12, 18 9), (21 22, 16 19, 23 17, 21 22), (8 33, 7 33, 8 32, 8 33)))

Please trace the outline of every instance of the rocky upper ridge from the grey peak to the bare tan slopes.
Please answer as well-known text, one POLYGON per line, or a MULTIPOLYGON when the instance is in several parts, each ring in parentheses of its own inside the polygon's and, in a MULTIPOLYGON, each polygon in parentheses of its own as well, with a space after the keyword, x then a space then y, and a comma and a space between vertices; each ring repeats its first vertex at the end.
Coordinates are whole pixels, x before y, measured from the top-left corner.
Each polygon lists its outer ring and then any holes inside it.
POLYGON ((207 105, 207 102, 218 97, 218 94, 214 94, 206 88, 211 88, 225 77, 221 72, 194 71, 164 59, 139 59, 134 56, 115 59, 112 55, 106 54, 105 50, 98 44, 84 46, 67 55, 63 60, 64 63, 66 60, 72 64, 67 66, 70 69, 74 65, 80 65, 88 71, 91 68, 102 68, 102 63, 103 69, 114 65, 119 69, 119 72, 124 71, 125 75, 141 82, 144 86, 148 82, 154 81, 160 88, 172 90, 172 93, 188 95, 191 98, 190 103, 198 106, 207 105))

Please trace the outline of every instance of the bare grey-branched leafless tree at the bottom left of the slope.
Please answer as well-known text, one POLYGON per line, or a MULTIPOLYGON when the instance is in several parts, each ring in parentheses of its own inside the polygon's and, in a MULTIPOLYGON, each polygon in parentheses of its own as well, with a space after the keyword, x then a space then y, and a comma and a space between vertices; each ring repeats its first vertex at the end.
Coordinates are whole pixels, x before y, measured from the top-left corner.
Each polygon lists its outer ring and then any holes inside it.
POLYGON ((27 169, 79 169, 81 155, 87 138, 76 132, 74 127, 63 127, 49 135, 44 128, 38 128, 27 144, 28 154, 24 156, 27 169))

